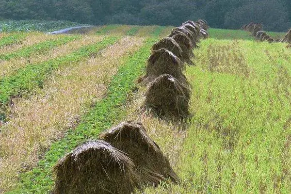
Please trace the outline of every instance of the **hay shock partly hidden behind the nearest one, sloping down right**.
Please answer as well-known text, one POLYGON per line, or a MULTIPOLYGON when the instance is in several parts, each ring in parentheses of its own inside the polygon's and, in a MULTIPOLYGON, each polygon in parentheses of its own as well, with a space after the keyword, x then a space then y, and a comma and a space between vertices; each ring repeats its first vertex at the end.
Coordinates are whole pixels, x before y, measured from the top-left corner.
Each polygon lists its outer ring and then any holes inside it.
POLYGON ((140 184, 157 186, 165 179, 177 183, 179 178, 160 147, 146 134, 141 123, 123 122, 99 136, 127 153, 135 164, 134 172, 140 184))

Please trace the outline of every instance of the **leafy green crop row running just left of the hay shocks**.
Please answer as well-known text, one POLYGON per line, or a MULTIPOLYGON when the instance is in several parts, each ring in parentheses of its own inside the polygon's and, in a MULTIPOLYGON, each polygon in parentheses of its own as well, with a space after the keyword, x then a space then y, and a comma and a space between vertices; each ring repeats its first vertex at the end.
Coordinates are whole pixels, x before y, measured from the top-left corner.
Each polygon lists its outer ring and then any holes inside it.
POLYGON ((150 48, 157 39, 147 39, 145 45, 134 54, 122 60, 117 74, 113 77, 107 95, 82 116, 81 123, 74 130, 69 130, 63 139, 53 143, 44 159, 32 171, 22 174, 19 189, 10 194, 49 193, 53 186, 51 167, 66 152, 81 142, 96 138, 100 131, 111 127, 125 117, 124 105, 135 88, 135 80, 142 75, 150 48))

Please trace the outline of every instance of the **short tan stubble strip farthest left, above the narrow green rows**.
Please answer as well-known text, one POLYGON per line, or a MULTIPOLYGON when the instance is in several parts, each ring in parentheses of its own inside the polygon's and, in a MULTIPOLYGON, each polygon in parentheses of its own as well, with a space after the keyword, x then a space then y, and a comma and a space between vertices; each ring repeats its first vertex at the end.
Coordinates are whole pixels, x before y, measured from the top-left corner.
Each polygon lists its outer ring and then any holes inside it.
POLYGON ((40 42, 55 40, 61 36, 64 36, 64 35, 52 36, 49 34, 45 34, 43 32, 27 32, 25 34, 26 38, 21 42, 21 44, 10 45, 7 47, 0 48, 0 53, 5 54, 16 52, 18 49, 21 49, 22 47, 30 47, 40 42))

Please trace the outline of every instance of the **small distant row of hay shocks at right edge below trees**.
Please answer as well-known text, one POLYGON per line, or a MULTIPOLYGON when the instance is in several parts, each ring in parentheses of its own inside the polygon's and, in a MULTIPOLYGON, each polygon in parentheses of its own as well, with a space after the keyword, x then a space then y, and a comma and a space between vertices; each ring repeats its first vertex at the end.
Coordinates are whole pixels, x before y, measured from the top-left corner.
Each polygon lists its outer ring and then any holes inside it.
MULTIPOLYGON (((256 39, 259 41, 267 41, 269 43, 285 42, 291 44, 291 29, 286 33, 286 35, 282 39, 272 38, 269 34, 267 34, 267 32, 263 31, 263 25, 260 23, 251 22, 249 24, 242 26, 241 29, 247 32, 251 32, 251 34, 255 36, 256 39)), ((287 48, 289 47, 290 46, 288 45, 287 48)))

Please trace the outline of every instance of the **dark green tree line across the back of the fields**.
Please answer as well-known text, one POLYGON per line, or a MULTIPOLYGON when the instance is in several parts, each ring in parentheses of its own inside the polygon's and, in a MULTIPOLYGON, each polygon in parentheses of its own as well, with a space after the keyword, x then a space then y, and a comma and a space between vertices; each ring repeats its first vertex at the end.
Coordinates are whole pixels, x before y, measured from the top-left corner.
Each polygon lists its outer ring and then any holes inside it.
POLYGON ((290 0, 0 0, 0 18, 70 20, 86 24, 173 25, 203 18, 211 27, 291 27, 290 0))

